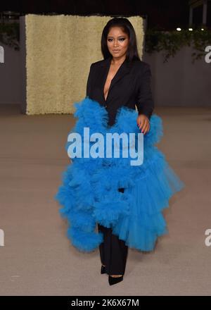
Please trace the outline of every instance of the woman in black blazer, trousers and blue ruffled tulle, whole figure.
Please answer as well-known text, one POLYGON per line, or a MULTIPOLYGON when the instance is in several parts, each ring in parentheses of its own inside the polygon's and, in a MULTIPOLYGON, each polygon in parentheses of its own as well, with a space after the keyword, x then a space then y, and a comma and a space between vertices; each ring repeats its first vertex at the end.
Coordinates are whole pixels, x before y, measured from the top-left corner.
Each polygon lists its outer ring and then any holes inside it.
POLYGON ((87 97, 75 103, 79 119, 73 131, 82 138, 84 128, 103 137, 142 132, 144 160, 131 166, 129 159, 75 156, 55 198, 64 206, 61 216, 70 221, 72 244, 83 252, 99 247, 101 273, 108 273, 113 285, 123 280, 128 247, 151 251, 157 237, 167 233, 161 211, 184 183, 153 145, 162 136, 162 124, 152 115, 151 70, 139 59, 127 18, 108 21, 101 51, 104 59, 91 63, 87 97))

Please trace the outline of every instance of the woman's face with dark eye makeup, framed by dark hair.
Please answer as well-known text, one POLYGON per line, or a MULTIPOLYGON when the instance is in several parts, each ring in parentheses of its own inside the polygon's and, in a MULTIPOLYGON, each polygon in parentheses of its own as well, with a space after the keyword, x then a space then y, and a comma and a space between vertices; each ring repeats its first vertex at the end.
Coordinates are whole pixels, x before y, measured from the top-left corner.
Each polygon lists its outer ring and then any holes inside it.
POLYGON ((108 32, 107 46, 113 58, 121 58, 126 54, 129 37, 120 27, 112 27, 108 32))

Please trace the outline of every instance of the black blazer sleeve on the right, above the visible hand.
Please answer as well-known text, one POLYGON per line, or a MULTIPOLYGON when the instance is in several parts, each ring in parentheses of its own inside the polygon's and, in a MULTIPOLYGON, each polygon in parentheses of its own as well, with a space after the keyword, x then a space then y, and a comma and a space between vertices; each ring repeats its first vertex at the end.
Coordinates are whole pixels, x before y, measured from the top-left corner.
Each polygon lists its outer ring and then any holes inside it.
POLYGON ((138 101, 137 109, 139 114, 144 114, 151 118, 154 109, 154 101, 151 92, 151 68, 146 63, 146 68, 144 68, 143 73, 141 73, 141 78, 139 78, 139 87, 138 87, 138 101))

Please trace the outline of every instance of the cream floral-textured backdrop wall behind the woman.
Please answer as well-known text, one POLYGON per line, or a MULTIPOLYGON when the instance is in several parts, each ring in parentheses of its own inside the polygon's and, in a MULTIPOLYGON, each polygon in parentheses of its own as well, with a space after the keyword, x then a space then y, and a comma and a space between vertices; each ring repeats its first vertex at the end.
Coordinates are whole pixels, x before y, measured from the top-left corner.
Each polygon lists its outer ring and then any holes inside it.
MULTIPOLYGON (((86 96, 91 63, 103 59, 101 33, 110 16, 25 16, 27 114, 72 113, 86 96)), ((143 18, 130 17, 143 50, 143 18)))

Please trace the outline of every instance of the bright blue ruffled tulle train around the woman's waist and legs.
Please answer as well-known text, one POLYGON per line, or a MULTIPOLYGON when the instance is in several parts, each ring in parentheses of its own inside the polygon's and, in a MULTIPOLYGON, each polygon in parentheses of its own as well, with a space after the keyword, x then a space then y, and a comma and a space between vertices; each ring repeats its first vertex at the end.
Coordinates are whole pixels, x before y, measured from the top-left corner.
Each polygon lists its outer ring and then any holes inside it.
MULTIPOLYGON (((95 132, 121 134, 141 131, 136 125, 137 112, 122 106, 117 111, 115 124, 108 126, 108 112, 97 101, 86 97, 75 102, 75 127, 82 137, 84 128, 89 135, 95 132)), ((129 164, 131 157, 72 158, 62 173, 62 185, 54 198, 62 208, 60 215, 68 220, 67 236, 79 251, 91 252, 103 242, 103 234, 96 230, 96 223, 113 228, 113 234, 124 240, 128 247, 151 251, 157 238, 168 233, 162 210, 169 206, 169 199, 184 187, 179 177, 167 163, 164 154, 155 147, 160 142, 162 120, 153 114, 150 131, 143 136, 143 163, 129 164), (124 193, 119 188, 124 188, 124 193)), ((94 142, 89 142, 90 146, 94 142)), ((68 151, 71 142, 67 142, 68 151)), ((82 152, 83 153, 83 152, 82 152)), ((121 151, 120 151, 120 154, 121 151)))

